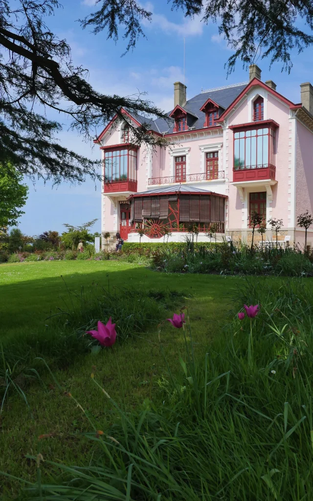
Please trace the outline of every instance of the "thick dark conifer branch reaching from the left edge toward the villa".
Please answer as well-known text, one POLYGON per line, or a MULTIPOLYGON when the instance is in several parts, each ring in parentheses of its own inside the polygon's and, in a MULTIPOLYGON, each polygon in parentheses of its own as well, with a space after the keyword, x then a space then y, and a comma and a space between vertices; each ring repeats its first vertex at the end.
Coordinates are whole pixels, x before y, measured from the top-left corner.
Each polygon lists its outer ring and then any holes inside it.
MULTIPOLYGON (((109 0, 113 7, 119 3, 109 0)), ((124 9, 130 3, 134 4, 127 1, 124 9)), ((11 162, 20 173, 32 178, 38 175, 56 183, 62 179, 80 182, 87 174, 94 179, 99 177, 101 162, 56 142, 54 135, 62 130, 62 125, 46 117, 47 108, 67 116, 71 129, 86 139, 93 139, 115 115, 126 123, 121 108, 140 113, 147 117, 146 123, 129 127, 136 142, 145 140, 151 144, 156 141, 146 134, 150 129, 148 117, 166 115, 143 94, 124 98, 107 96, 92 88, 86 80, 88 71, 73 64, 66 40, 60 40, 46 24, 59 7, 58 0, 1 2, 0 162, 11 162)), ((140 16, 140 9, 134 6, 133 17, 136 15, 140 16)), ((129 16, 127 20, 131 25, 129 16)), ((138 29, 136 26, 137 32, 138 29)), ((131 36, 131 30, 129 33, 131 36)))

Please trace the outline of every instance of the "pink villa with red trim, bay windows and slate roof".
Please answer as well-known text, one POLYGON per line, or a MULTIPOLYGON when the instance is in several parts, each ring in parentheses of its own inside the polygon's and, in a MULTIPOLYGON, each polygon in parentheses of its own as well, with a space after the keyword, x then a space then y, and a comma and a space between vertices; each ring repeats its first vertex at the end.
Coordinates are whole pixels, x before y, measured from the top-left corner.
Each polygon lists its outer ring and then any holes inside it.
MULTIPOLYGON (((249 214, 282 219, 279 239, 303 244, 300 213, 313 211, 313 87, 300 85, 301 103, 261 81, 256 65, 249 82, 201 91, 186 99, 174 84, 171 119, 148 121, 166 147, 132 143, 125 122, 113 118, 95 140, 104 160, 102 233, 120 232, 124 240, 183 241, 190 224, 198 241, 214 222, 217 239, 249 241, 249 214)), ((122 110, 135 127, 147 119, 122 110)), ((256 235, 256 239, 259 235, 256 235)), ((267 224, 264 238, 272 240, 267 224)), ((104 239, 103 239, 104 243, 104 239)), ((308 231, 313 245, 313 229, 308 231)))

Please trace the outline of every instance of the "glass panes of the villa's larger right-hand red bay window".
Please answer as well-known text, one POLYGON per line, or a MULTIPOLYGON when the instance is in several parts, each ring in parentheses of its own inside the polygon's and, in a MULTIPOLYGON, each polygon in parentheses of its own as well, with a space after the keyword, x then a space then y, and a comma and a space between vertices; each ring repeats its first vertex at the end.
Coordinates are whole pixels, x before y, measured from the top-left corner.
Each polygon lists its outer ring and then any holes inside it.
POLYGON ((274 129, 252 129, 234 133, 234 170, 275 165, 274 129))

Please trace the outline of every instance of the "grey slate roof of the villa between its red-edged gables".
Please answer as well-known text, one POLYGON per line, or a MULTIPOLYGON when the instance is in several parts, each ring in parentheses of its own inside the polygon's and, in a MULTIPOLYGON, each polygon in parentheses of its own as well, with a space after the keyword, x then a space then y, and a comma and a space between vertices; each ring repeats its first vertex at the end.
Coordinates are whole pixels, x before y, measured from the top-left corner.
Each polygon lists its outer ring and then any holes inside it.
MULTIPOLYGON (((220 108, 226 109, 246 86, 247 84, 234 85, 232 87, 226 87, 225 89, 201 92, 201 94, 197 94, 193 98, 189 99, 183 108, 187 111, 187 113, 188 111, 191 112, 191 116, 195 119, 191 127, 195 127, 196 129, 203 128, 205 113, 203 113, 203 111, 200 111, 200 108, 204 105, 205 101, 207 101, 208 98, 211 98, 213 101, 215 101, 215 103, 218 104, 220 108), (198 117, 198 119, 196 119, 195 117, 198 117)), ((171 111, 168 112, 168 115, 171 113, 171 111)), ((165 134, 170 134, 171 132, 173 132, 174 123, 172 125, 169 125, 163 118, 157 118, 156 120, 152 121, 152 123, 152 130, 165 134)))

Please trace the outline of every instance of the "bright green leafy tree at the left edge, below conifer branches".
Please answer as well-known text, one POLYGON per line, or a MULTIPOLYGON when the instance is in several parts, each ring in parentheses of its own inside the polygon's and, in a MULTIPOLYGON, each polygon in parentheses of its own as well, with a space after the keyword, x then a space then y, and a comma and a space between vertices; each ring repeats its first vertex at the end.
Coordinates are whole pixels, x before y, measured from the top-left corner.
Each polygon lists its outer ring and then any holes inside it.
POLYGON ((28 194, 28 187, 21 184, 22 179, 11 164, 0 164, 0 228, 16 226, 18 218, 25 214, 19 210, 25 205, 28 194))

